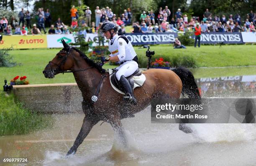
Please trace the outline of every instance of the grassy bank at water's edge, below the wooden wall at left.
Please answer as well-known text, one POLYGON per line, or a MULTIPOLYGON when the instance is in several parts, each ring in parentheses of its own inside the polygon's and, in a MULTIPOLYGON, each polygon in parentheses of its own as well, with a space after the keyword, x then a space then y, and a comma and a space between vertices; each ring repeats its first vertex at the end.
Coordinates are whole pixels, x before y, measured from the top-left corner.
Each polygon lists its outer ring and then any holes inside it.
POLYGON ((7 96, 1 91, 0 98, 0 135, 26 134, 53 125, 49 115, 31 113, 15 104, 12 94, 7 96))

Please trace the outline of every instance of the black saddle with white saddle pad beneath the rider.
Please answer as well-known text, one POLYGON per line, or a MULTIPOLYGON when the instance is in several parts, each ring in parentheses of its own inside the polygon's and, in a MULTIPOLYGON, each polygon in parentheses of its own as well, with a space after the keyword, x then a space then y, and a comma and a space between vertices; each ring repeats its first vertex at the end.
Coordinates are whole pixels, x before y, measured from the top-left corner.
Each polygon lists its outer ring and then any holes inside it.
MULTIPOLYGON (((118 82, 118 79, 115 77, 115 74, 118 70, 108 69, 109 74, 112 74, 110 76, 110 84, 117 92, 121 94, 125 94, 124 87, 118 82)), ((146 77, 144 74, 141 73, 139 69, 137 69, 131 76, 126 77, 128 82, 131 84, 132 89, 135 89, 136 87, 141 87, 143 83, 146 80, 146 77)))

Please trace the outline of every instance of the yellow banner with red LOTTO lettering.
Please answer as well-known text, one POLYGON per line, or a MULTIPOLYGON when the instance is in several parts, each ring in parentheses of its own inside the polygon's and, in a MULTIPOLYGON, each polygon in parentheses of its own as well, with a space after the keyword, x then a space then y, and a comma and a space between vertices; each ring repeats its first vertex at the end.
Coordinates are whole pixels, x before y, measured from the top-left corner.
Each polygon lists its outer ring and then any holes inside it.
POLYGON ((46 35, 3 36, 0 49, 13 47, 13 49, 47 48, 46 35))

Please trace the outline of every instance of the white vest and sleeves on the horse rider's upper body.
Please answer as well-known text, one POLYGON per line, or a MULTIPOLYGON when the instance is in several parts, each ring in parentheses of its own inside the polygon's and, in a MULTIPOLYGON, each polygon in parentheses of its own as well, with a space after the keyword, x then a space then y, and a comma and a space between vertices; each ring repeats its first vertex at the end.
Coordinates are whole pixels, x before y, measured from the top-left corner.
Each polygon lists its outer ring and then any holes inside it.
POLYGON ((118 63, 132 60, 136 56, 136 52, 134 51, 131 42, 128 39, 125 41, 125 39, 118 36, 118 34, 113 36, 113 39, 109 41, 108 46, 108 50, 111 53, 110 56, 118 56, 120 60, 118 63))

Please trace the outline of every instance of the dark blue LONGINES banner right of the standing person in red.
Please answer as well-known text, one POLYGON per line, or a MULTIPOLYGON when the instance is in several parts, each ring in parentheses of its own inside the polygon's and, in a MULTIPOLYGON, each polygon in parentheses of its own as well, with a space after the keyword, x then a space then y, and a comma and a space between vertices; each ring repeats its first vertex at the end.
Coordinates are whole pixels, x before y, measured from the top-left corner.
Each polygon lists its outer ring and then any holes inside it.
MULTIPOLYGON (((192 36, 195 39, 195 35, 192 36)), ((239 32, 211 32, 211 33, 202 33, 200 38, 200 43, 202 44, 216 44, 216 43, 225 43, 225 44, 238 44, 243 43, 243 38, 239 32)))

